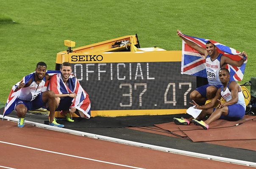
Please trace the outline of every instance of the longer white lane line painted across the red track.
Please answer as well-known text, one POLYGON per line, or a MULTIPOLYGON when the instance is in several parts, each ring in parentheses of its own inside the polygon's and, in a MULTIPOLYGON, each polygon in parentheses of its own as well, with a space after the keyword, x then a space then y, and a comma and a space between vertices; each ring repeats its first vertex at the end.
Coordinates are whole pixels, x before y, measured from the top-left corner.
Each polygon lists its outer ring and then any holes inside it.
POLYGON ((45 151, 45 152, 48 152, 48 153, 66 155, 66 156, 75 157, 75 158, 82 158, 82 159, 86 159, 86 160, 97 161, 97 162, 100 162, 100 163, 112 164, 112 165, 116 165, 116 166, 124 166, 124 167, 133 168, 133 169, 144 169, 144 168, 139 168, 139 167, 135 167, 135 166, 127 166, 127 165, 123 165, 123 164, 117 164, 117 163, 111 163, 111 162, 107 162, 107 161, 95 160, 95 159, 92 159, 92 158, 85 158, 85 157, 80 157, 80 156, 76 156, 76 155, 70 155, 70 154, 65 154, 65 153, 58 153, 58 152, 54 152, 54 151, 49 151, 49 150, 43 150, 43 149, 39 149, 39 148, 28 147, 28 146, 25 146, 25 145, 14 144, 14 143, 9 143, 9 142, 0 141, 0 143, 15 145, 15 146, 19 146, 19 147, 30 148, 30 149, 33 149, 33 150, 45 151))

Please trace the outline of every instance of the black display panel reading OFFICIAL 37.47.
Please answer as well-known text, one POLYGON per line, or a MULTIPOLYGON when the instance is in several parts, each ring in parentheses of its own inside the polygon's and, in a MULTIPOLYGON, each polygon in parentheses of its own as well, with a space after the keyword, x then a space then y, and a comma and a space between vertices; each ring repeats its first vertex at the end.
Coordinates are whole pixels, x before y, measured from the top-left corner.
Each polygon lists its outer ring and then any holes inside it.
POLYGON ((186 109, 195 76, 181 62, 72 63, 92 110, 186 109))

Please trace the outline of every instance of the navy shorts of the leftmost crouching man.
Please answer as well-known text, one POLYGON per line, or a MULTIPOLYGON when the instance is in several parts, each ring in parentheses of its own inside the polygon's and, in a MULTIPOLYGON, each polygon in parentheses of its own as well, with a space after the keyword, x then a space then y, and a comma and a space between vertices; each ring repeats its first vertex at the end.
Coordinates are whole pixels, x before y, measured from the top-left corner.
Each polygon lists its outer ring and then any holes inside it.
POLYGON ((43 102, 42 93, 40 93, 33 101, 24 101, 18 98, 16 101, 16 106, 19 104, 24 104, 28 110, 36 110, 44 107, 46 103, 43 102))

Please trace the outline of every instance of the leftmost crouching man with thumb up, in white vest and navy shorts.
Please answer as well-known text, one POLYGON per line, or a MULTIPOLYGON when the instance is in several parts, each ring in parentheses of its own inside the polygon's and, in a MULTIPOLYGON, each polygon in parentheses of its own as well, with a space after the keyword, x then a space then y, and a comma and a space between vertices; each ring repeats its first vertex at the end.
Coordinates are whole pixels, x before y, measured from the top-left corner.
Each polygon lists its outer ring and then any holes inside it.
MULTIPOLYGON (((28 110, 35 110, 44 106, 48 106, 50 109, 49 125, 64 127, 64 125, 58 124, 54 120, 56 108, 54 93, 52 91, 42 92, 45 82, 50 78, 50 76, 46 74, 46 68, 47 65, 44 62, 37 63, 36 71, 25 76, 20 82, 14 85, 13 91, 11 91, 11 93, 19 92, 17 93, 18 96, 14 109, 19 117, 18 127, 20 128, 25 125, 25 114, 28 110)), ((13 110, 6 108, 5 111, 8 110, 7 113, 13 110)))

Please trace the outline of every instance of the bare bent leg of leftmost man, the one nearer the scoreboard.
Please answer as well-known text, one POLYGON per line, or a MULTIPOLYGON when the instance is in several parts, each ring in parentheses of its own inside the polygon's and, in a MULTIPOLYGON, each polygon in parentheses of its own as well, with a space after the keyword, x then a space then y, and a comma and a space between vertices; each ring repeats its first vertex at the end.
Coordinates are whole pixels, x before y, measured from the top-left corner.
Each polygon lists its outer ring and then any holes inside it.
POLYGON ((56 99, 55 99, 55 94, 53 93, 53 91, 43 92, 42 93, 42 101, 44 103, 47 103, 47 105, 49 106, 50 123, 53 123, 55 109, 56 109, 56 99))

